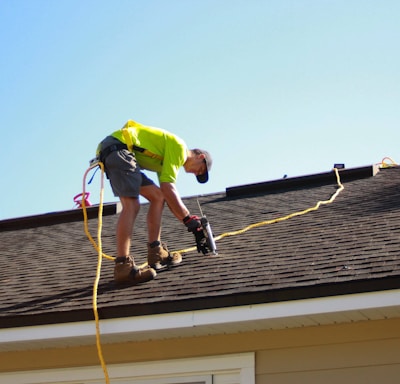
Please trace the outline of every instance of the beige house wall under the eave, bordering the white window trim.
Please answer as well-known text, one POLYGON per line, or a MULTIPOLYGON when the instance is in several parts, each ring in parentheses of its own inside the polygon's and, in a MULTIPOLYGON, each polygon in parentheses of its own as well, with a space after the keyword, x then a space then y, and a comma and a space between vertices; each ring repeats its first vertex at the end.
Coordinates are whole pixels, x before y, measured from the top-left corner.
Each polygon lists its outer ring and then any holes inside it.
MULTIPOLYGON (((108 366, 255 352, 256 384, 397 383, 399 351, 398 318, 103 345, 108 366)), ((0 353, 0 372, 98 364, 94 346, 0 353)))

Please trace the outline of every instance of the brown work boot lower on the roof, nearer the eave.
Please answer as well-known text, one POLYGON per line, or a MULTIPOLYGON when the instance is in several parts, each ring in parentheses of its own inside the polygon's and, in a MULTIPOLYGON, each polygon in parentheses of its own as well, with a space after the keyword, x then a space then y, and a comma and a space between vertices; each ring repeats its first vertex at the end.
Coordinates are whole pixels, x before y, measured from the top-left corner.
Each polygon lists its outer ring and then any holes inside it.
POLYGON ((131 256, 120 256, 115 259, 114 280, 117 283, 129 282, 134 285, 153 280, 156 271, 149 266, 139 268, 131 256))

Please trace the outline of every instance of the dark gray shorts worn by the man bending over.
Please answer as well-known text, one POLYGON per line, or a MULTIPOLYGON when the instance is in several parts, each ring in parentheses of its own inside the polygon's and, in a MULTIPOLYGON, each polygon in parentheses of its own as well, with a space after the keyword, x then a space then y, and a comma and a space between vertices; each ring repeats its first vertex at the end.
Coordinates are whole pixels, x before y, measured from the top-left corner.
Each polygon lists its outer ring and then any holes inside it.
MULTIPOLYGON (((114 137, 106 137, 101 143, 101 149, 121 142, 114 137)), ((135 154, 128 149, 111 152, 104 160, 107 177, 110 180, 114 196, 139 197, 140 187, 153 185, 140 169, 135 154)))

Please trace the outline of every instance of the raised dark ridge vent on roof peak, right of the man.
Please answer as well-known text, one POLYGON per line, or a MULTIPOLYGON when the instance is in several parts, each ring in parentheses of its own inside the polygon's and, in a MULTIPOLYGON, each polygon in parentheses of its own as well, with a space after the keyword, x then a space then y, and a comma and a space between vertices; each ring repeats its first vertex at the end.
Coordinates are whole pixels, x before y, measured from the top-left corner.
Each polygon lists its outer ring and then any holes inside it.
MULTIPOLYGON (((352 181, 375 176, 379 172, 378 165, 368 165, 358 168, 339 169, 341 181, 352 181)), ((307 176, 298 176, 285 179, 272 180, 256 184, 239 185, 226 188, 227 197, 253 195, 265 192, 278 192, 290 188, 314 187, 316 184, 324 185, 335 182, 334 170, 324 173, 316 173, 307 176)))

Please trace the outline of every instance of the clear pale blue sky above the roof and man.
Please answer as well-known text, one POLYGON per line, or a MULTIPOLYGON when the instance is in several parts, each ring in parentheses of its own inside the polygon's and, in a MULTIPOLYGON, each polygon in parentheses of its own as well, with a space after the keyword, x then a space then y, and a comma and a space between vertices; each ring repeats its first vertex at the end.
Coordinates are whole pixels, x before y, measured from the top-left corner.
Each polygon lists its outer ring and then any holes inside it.
POLYGON ((2 0, 0 219, 73 208, 97 143, 130 118, 213 154, 208 184, 181 170, 182 196, 400 161, 399 14, 398 0, 2 0))

